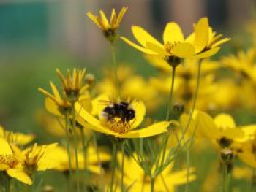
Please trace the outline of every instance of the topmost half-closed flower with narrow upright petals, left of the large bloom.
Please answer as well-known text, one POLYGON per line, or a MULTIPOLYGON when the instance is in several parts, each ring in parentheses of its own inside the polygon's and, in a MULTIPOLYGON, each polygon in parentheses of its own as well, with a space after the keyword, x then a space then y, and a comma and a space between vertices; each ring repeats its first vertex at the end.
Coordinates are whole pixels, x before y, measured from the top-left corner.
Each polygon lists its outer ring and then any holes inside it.
POLYGON ((121 20, 124 18, 124 14, 127 12, 127 7, 122 7, 121 11, 116 16, 116 10, 112 9, 110 22, 106 18, 105 13, 100 10, 99 16, 93 15, 91 12, 87 12, 87 16, 102 30, 105 37, 113 42, 116 39, 117 29, 120 26, 121 20))

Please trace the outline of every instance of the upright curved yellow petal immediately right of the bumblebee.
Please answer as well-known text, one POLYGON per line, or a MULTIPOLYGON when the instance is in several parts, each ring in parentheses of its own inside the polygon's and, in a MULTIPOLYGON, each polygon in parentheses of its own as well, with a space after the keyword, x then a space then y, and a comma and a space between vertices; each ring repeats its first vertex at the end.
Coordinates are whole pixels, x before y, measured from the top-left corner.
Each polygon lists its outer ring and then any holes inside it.
POLYGON ((137 128, 144 119, 146 107, 143 101, 133 101, 131 106, 135 110, 135 122, 132 123, 131 128, 137 128))

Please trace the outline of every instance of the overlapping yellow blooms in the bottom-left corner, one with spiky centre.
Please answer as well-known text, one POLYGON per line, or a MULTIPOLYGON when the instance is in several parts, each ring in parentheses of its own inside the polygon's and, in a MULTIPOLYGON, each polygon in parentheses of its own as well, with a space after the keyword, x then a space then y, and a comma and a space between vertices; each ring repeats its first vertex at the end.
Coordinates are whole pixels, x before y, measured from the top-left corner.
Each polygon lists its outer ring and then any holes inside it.
POLYGON ((16 145, 9 144, 0 138, 0 169, 10 177, 28 185, 32 184, 32 174, 53 169, 56 156, 52 153, 56 144, 37 146, 20 150, 16 145))

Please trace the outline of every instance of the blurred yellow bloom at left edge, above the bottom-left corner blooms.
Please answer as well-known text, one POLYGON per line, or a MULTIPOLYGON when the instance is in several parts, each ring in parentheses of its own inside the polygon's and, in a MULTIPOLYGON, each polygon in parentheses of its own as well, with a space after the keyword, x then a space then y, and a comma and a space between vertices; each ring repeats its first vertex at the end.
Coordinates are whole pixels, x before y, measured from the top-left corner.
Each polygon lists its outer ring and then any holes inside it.
POLYGON ((0 137, 15 145, 27 145, 34 139, 34 135, 32 134, 14 133, 4 130, 2 126, 0 126, 0 137))

